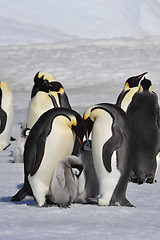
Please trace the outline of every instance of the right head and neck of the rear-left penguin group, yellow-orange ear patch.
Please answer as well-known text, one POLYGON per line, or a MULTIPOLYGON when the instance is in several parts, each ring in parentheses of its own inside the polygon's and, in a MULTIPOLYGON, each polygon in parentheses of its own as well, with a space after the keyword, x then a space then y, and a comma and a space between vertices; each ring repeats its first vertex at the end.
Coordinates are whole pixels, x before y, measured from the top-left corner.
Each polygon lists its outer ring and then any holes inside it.
POLYGON ((60 82, 49 83, 49 95, 53 101, 54 107, 64 107, 71 109, 67 94, 60 82))

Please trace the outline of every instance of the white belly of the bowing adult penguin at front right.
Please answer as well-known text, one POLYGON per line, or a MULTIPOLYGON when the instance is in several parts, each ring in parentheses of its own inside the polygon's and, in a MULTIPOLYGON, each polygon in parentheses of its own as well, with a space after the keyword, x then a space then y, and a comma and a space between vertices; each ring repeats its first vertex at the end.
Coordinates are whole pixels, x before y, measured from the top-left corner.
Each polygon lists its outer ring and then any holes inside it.
POLYGON ((97 173, 100 196, 99 205, 109 205, 114 189, 120 178, 117 169, 116 152, 111 157, 111 172, 108 172, 103 164, 103 145, 112 137, 112 117, 104 112, 94 122, 92 130, 92 151, 95 170, 97 173))

